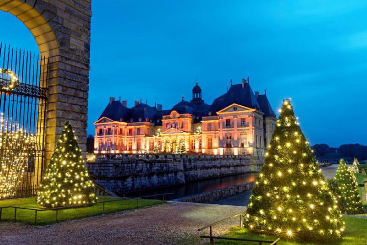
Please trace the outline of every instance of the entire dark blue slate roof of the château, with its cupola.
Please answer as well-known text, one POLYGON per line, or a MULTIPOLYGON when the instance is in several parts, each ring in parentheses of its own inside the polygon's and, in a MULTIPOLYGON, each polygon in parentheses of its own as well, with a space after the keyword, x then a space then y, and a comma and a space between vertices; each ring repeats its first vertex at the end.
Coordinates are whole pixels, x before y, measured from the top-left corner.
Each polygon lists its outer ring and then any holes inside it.
MULTIPOLYGON (((196 85, 195 91, 201 88, 196 85), (198 88, 196 88, 198 87, 198 88)), ((194 89, 193 92, 194 92, 194 89)), ((265 117, 275 117, 275 113, 269 103, 266 94, 258 95, 253 94, 249 83, 232 85, 227 93, 222 94, 216 98, 212 105, 204 103, 204 100, 198 101, 180 101, 171 110, 158 111, 156 107, 151 107, 144 103, 139 103, 132 108, 123 107, 120 101, 112 101, 107 105, 105 110, 99 116, 107 117, 115 121, 123 122, 152 122, 155 126, 162 125, 163 115, 168 115, 171 111, 177 111, 180 114, 189 113, 194 116, 194 123, 200 123, 203 116, 215 115, 217 111, 220 111, 229 105, 236 103, 245 107, 253 108, 264 112, 265 117)))

